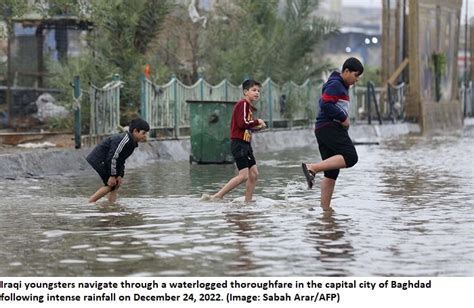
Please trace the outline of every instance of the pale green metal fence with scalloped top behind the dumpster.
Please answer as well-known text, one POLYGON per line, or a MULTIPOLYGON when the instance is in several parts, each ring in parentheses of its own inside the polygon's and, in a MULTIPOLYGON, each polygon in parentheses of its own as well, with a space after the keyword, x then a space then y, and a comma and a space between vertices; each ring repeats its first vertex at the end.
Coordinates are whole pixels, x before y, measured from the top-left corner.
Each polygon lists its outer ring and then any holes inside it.
MULTIPOLYGON (((261 98, 255 106, 257 116, 270 128, 308 125, 314 121, 320 91, 321 85, 312 86, 309 80, 302 85, 294 82, 279 85, 268 78, 262 84, 261 98)), ((228 80, 211 85, 200 78, 187 86, 173 77, 168 83, 158 85, 143 77, 141 115, 152 129, 179 137, 189 134, 187 100, 235 102, 242 95, 241 86, 228 80)))

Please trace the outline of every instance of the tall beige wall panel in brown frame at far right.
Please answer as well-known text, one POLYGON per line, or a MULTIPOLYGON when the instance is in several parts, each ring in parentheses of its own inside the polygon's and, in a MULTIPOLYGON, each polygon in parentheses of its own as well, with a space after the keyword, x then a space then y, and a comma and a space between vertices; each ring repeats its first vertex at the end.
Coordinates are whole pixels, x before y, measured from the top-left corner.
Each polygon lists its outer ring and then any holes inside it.
POLYGON ((462 106, 458 101, 457 87, 461 5, 462 0, 409 1, 410 86, 406 115, 420 123, 423 132, 462 127, 462 106), (445 59, 444 64, 439 64, 442 66, 439 72, 434 71, 435 56, 444 56, 445 59), (440 97, 437 97, 436 85, 440 97))

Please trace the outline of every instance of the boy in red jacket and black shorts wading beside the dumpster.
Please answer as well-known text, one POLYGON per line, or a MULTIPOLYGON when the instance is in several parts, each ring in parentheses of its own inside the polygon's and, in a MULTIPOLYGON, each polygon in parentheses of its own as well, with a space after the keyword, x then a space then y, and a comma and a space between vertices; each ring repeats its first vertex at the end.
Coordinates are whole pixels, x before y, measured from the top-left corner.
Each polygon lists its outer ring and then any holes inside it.
POLYGON ((229 180, 213 196, 203 194, 201 200, 222 199, 232 189, 246 182, 244 200, 245 202, 252 201, 253 191, 257 183, 258 169, 250 141, 253 131, 267 127, 262 119, 253 118, 253 111, 255 110, 253 103, 260 98, 260 88, 261 84, 258 81, 244 81, 242 84, 244 97, 235 104, 234 111, 232 112, 230 125, 231 152, 239 174, 229 180))

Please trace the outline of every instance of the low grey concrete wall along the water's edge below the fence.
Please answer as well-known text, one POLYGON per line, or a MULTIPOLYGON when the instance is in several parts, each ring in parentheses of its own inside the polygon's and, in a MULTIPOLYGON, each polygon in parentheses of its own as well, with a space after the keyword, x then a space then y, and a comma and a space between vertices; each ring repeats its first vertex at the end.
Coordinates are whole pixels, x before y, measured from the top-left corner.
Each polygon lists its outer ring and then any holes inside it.
MULTIPOLYGON (((377 142, 391 136, 419 133, 415 124, 354 125, 349 134, 355 142, 377 142)), ((267 131, 254 134, 252 141, 255 152, 278 151, 288 148, 316 145, 312 129, 267 131)), ((16 154, 0 155, 0 177, 46 177, 55 175, 76 175, 90 172, 85 160, 91 151, 87 149, 32 150, 16 154)), ((191 143, 189 139, 150 141, 140 144, 138 150, 127 160, 126 168, 137 168, 160 160, 189 160, 191 143)))

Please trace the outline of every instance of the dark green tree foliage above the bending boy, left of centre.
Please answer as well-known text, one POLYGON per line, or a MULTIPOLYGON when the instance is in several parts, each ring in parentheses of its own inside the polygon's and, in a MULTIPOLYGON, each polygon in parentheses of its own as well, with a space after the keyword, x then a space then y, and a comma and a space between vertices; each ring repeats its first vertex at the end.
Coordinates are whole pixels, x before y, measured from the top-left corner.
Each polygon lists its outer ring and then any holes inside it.
MULTIPOLYGON (((138 114, 140 75, 170 5, 168 0, 97 0, 92 4, 91 53, 69 59, 63 66, 51 62, 49 70, 56 77, 50 86, 69 89, 68 84, 78 75, 83 88, 89 83, 101 87, 118 74, 125 83, 121 91, 121 119, 128 123, 138 114)), ((88 117, 84 110, 83 116, 88 117)))

